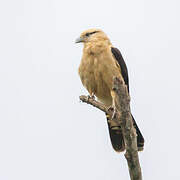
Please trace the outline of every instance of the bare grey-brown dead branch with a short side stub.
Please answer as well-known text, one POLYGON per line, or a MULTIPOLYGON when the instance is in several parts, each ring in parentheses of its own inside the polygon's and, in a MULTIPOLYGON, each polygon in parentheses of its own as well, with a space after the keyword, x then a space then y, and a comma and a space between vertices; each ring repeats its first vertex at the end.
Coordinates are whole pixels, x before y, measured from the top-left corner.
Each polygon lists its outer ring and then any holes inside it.
MULTIPOLYGON (((142 180, 141 167, 138 157, 136 131, 133 126, 131 111, 130 111, 130 97, 127 91, 127 86, 123 80, 115 77, 113 82, 113 91, 115 93, 115 107, 116 114, 113 121, 121 126, 125 141, 125 157, 129 167, 131 180, 142 180)), ((109 114, 112 117, 112 110, 104 106, 102 103, 87 96, 80 96, 80 100, 90 104, 101 111, 109 114)))

